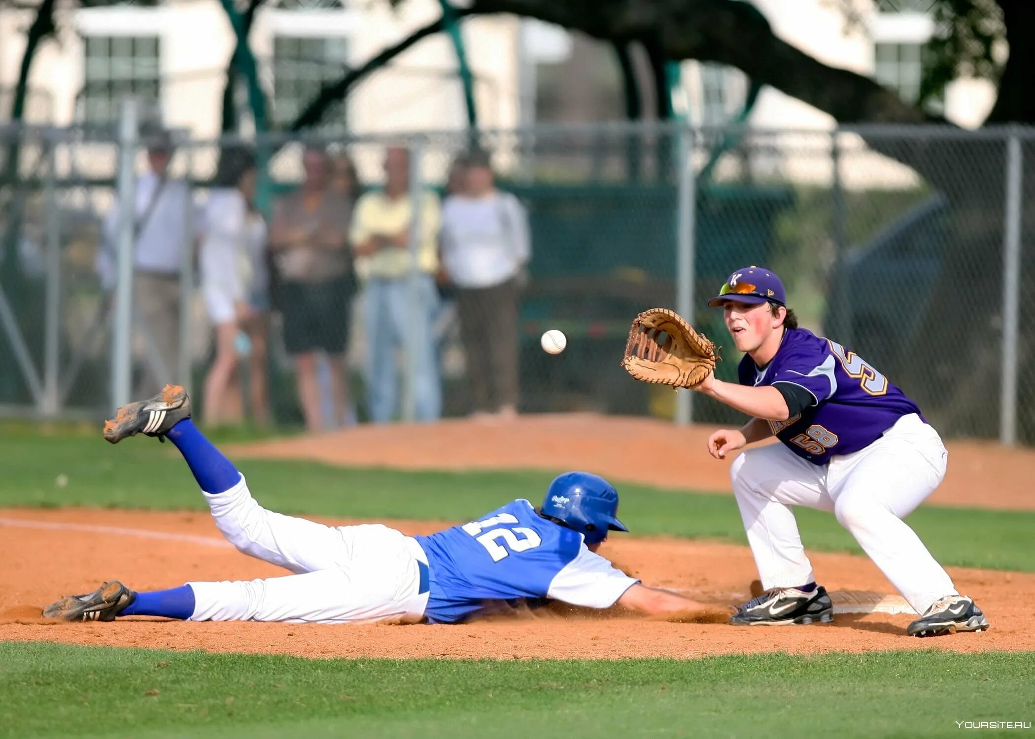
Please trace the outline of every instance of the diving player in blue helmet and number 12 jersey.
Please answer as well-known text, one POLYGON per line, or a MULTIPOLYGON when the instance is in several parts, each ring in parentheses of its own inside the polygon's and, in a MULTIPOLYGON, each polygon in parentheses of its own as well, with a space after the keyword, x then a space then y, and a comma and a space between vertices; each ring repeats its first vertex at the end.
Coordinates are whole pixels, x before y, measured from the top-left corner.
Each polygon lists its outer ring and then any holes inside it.
POLYGON ((45 609, 47 617, 455 623, 550 599, 672 619, 708 617, 707 607, 649 588, 596 554, 609 531, 627 530, 616 518, 618 493, 596 475, 560 475, 538 509, 519 499, 463 526, 405 536, 386 526, 324 526, 260 506, 244 477, 191 422, 182 387, 167 385, 148 401, 124 406, 105 425, 113 444, 136 434, 176 445, 215 525, 239 551, 295 574, 153 592, 110 582, 61 598, 45 609))

